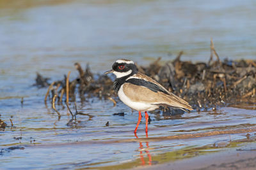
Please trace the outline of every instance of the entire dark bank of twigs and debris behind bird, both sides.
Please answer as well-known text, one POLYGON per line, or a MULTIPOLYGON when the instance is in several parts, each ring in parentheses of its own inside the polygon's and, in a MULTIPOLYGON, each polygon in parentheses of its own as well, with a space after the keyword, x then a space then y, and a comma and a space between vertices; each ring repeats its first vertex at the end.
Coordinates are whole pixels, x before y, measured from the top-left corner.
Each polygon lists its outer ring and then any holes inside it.
MULTIPOLYGON (((159 81, 166 89, 177 96, 184 98, 196 110, 216 109, 217 106, 227 106, 239 102, 239 99, 256 97, 256 60, 211 60, 208 63, 197 62, 193 64, 181 61, 180 56, 165 64, 159 64, 157 59, 150 66, 138 66, 141 73, 159 81)), ((110 99, 116 97, 113 90, 113 81, 106 75, 93 74, 90 67, 82 69, 79 63, 75 64, 79 77, 68 80, 68 94, 71 102, 76 101, 76 93, 81 102, 86 97, 97 96, 110 99), (96 78, 97 77, 97 78, 96 78)), ((43 78, 39 73, 36 77, 36 85, 45 87, 50 85, 49 79, 43 78)), ((52 99, 54 94, 58 97, 58 104, 65 101, 67 76, 63 80, 52 82, 45 100, 52 99)), ((46 102, 46 101, 45 101, 46 102)), ((115 104, 115 101, 113 101, 115 104)))

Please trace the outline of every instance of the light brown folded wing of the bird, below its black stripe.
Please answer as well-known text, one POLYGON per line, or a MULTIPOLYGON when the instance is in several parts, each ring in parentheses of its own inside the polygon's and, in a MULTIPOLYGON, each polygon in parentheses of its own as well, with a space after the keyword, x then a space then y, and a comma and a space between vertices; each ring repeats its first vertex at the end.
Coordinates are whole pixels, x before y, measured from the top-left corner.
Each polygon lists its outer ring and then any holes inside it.
MULTIPOLYGON (((150 80, 151 81, 151 80, 150 80)), ((156 104, 159 106, 172 106, 175 108, 182 108, 193 110, 191 106, 186 102, 184 103, 183 99, 174 94, 164 94, 163 92, 153 92, 147 87, 143 87, 140 85, 134 85, 132 83, 124 83, 123 86, 125 96, 132 99, 135 102, 141 103, 150 103, 156 104)))

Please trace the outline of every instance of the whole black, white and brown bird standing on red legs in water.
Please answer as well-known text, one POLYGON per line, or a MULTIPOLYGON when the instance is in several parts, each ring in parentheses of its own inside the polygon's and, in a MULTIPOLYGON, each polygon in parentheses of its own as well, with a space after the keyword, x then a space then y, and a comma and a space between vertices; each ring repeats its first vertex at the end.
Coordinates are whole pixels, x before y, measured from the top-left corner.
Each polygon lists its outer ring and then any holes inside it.
POLYGON ((139 112, 139 118, 134 130, 136 134, 141 121, 141 112, 145 112, 146 128, 148 132, 148 113, 159 108, 159 106, 170 106, 181 110, 193 110, 184 99, 166 90, 156 80, 138 72, 138 68, 132 60, 118 59, 114 62, 112 69, 104 74, 113 73, 116 76, 113 89, 119 99, 139 112))

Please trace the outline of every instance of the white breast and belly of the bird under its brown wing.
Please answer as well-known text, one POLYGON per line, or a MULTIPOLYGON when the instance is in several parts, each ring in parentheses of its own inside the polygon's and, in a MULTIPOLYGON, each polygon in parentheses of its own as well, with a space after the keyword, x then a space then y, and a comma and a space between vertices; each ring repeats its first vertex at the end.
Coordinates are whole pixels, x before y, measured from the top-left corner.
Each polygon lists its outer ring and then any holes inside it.
POLYGON ((152 111, 158 108, 158 106, 154 104, 132 101, 132 99, 129 99, 129 97, 125 96, 123 85, 121 85, 117 95, 124 104, 137 111, 152 111))

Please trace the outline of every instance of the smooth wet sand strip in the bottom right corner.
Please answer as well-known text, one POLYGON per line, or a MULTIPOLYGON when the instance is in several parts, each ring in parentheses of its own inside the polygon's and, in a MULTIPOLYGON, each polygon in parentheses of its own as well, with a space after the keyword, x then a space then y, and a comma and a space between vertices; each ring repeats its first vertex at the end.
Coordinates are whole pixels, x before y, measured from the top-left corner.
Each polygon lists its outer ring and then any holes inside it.
POLYGON ((256 169, 256 143, 166 164, 135 169, 256 169))

